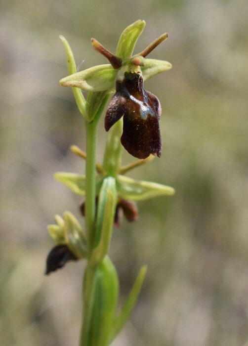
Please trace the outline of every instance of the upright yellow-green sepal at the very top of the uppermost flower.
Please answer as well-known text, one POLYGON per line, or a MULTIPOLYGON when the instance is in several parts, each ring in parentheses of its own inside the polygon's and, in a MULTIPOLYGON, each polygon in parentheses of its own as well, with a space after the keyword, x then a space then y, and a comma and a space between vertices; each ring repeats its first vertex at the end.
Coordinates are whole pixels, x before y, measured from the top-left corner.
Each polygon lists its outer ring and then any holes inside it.
POLYGON ((134 46, 144 30, 145 25, 146 22, 139 19, 124 29, 116 48, 116 55, 122 58, 123 62, 132 55, 134 46))

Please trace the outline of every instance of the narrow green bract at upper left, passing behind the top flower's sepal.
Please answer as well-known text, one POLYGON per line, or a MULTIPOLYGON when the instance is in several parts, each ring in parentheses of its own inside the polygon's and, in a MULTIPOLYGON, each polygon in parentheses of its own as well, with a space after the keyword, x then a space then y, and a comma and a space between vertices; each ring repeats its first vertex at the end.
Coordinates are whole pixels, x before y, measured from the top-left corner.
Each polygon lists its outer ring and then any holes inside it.
MULTIPOLYGON (((64 44, 65 51, 66 51, 66 57, 67 57, 67 67, 68 67, 68 72, 70 75, 74 74, 77 72, 77 65, 73 56, 72 49, 70 47, 70 44, 68 41, 64 38, 64 36, 59 36, 60 40, 64 44)), ((82 91, 79 88, 74 87, 73 89, 74 97, 77 102, 78 108, 80 110, 80 113, 83 115, 85 120, 87 119, 86 112, 85 112, 85 106, 86 106, 86 101, 83 97, 82 91)))

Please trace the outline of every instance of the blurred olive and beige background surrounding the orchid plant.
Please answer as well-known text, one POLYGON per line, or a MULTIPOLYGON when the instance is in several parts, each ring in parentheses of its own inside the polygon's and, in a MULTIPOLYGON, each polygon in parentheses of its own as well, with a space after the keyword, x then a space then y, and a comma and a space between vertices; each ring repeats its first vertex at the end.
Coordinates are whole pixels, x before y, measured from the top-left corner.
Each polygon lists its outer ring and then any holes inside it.
MULTIPOLYGON (((46 225, 65 210, 79 216, 79 196, 52 175, 84 171, 69 150, 85 138, 72 91, 58 84, 58 35, 85 69, 106 63, 91 37, 114 51, 137 19, 147 26, 135 52, 168 32, 150 57, 173 68, 145 84, 162 103, 163 155, 130 176, 176 195, 139 203, 139 220, 114 232, 123 300, 142 264, 148 273, 113 346, 247 345, 247 14, 247 0, 1 0, 1 346, 78 345, 84 262, 43 275, 46 225)), ((101 127, 99 161, 105 139, 101 127)))

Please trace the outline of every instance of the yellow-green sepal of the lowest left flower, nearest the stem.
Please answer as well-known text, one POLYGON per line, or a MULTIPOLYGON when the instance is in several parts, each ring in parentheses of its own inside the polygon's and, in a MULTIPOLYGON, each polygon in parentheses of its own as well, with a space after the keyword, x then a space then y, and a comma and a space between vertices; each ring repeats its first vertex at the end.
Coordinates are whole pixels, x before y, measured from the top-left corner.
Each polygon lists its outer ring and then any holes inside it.
POLYGON ((85 258, 87 256, 86 237, 79 221, 70 212, 65 212, 63 218, 66 245, 78 259, 85 258))

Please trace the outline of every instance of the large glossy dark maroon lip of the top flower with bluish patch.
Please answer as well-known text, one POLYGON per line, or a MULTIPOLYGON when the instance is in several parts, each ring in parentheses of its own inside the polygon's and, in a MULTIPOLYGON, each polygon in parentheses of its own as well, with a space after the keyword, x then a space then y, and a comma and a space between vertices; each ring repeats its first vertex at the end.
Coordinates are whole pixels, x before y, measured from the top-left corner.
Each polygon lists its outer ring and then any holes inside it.
POLYGON ((129 154, 138 159, 150 154, 161 157, 160 115, 159 99, 144 90, 142 76, 125 72, 124 79, 116 81, 116 93, 105 116, 105 130, 124 116, 121 142, 129 154))

